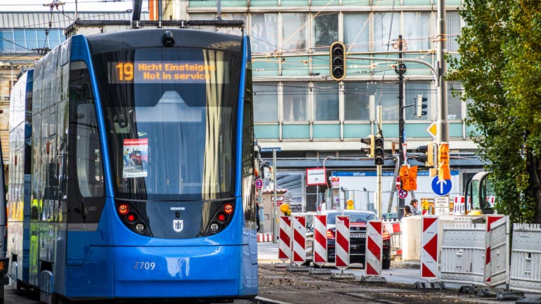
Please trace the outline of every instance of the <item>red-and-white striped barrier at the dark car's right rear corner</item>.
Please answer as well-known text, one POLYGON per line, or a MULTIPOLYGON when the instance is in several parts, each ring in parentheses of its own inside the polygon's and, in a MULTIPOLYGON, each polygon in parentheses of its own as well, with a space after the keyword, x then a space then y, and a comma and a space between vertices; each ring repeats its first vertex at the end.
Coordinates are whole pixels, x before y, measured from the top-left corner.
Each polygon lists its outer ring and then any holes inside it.
POLYGON ((382 275, 383 225, 381 220, 366 224, 365 272, 368 276, 382 275))

